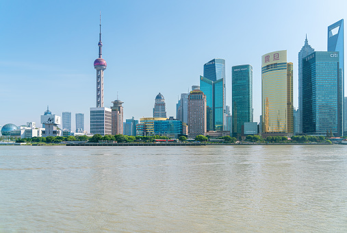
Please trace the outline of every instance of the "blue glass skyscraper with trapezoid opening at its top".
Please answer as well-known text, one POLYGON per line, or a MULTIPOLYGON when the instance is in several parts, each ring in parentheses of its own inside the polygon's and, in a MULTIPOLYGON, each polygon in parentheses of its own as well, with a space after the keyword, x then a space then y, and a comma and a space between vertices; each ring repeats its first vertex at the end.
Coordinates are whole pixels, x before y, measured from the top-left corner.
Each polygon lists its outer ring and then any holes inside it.
POLYGON ((328 51, 339 52, 339 86, 337 90, 337 122, 339 135, 343 136, 344 130, 344 19, 328 27, 328 51), (342 130, 342 132, 341 132, 342 130))

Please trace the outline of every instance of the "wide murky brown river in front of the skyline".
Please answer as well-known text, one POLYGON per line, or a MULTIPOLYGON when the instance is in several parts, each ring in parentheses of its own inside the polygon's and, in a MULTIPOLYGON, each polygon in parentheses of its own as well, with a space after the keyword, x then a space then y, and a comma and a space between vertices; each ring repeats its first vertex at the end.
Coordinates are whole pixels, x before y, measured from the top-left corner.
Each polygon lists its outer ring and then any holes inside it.
POLYGON ((0 232, 346 232, 347 145, 0 147, 0 232))

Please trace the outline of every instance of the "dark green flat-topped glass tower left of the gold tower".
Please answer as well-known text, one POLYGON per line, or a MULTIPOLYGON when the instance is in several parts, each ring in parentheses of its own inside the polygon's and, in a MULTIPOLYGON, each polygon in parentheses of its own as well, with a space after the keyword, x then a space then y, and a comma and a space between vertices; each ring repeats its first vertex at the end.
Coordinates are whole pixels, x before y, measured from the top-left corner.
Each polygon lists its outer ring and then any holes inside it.
POLYGON ((232 116, 233 137, 239 138, 242 134, 242 125, 253 121, 252 83, 253 68, 249 64, 233 66, 232 72, 232 116))

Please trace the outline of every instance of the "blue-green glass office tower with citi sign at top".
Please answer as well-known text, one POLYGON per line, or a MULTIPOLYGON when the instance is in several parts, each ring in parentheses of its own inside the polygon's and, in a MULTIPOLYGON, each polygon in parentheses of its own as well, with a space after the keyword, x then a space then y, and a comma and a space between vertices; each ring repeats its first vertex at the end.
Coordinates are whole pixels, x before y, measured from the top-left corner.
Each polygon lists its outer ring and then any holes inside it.
POLYGON ((339 52, 313 52, 303 58, 303 134, 342 136, 338 111, 339 52))

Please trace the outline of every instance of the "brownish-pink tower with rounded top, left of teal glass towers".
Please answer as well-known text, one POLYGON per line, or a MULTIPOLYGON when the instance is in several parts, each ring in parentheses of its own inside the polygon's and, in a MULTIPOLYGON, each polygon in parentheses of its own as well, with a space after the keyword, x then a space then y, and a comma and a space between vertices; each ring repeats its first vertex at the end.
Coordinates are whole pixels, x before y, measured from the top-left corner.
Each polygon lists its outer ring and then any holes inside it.
POLYGON ((201 90, 192 90, 188 95, 188 137, 205 136, 206 126, 206 95, 201 90))

